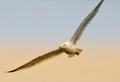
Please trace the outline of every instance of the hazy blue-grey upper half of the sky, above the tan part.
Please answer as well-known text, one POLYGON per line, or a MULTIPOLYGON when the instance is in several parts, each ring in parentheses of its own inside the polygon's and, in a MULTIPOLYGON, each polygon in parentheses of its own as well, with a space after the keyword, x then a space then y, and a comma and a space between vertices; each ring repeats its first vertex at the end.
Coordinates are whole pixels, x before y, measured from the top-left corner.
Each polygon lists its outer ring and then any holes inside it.
MULTIPOLYGON (((99 1, 1 0, 1 41, 14 44, 31 40, 69 40, 80 22, 99 1)), ((119 3, 119 0, 104 1, 85 30, 83 40, 120 42, 119 3)))

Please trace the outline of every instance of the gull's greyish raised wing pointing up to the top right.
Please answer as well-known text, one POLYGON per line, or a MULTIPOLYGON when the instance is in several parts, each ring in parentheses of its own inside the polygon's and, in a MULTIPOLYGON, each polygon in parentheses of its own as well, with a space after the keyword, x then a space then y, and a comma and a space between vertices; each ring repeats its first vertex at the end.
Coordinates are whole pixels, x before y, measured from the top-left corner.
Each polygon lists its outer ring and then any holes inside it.
POLYGON ((89 22, 93 19, 93 17, 97 14, 99 8, 101 7, 104 0, 101 0, 101 2, 92 10, 91 13, 88 14, 88 16, 82 21, 82 23, 79 25, 77 30, 75 31, 74 35, 71 38, 71 42, 73 44, 76 44, 77 40, 81 37, 85 27, 89 24, 89 22))

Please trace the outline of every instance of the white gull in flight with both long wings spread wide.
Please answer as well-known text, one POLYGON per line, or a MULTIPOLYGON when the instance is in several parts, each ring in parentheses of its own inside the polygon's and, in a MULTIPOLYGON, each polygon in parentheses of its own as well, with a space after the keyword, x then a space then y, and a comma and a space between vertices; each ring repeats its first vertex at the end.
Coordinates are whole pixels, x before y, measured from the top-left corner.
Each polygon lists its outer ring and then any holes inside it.
POLYGON ((62 43, 56 50, 53 50, 51 52, 48 52, 42 56, 39 56, 31 61, 29 61, 28 63, 13 69, 11 71, 8 71, 8 73, 11 72, 16 72, 18 70, 22 70, 22 69, 26 69, 29 67, 32 67, 40 62, 43 62, 43 60, 47 60, 51 57, 57 56, 61 53, 66 53, 68 54, 69 57, 73 57, 75 55, 78 55, 81 53, 82 49, 78 48, 75 46, 76 42, 80 39, 85 27, 90 23, 90 21, 93 19, 93 17, 97 14, 99 8, 101 7, 102 3, 104 0, 101 0, 99 2, 99 4, 88 14, 87 17, 85 17, 85 19, 80 23, 80 25, 78 26, 77 30, 75 31, 75 33, 73 34, 72 38, 65 42, 62 43))

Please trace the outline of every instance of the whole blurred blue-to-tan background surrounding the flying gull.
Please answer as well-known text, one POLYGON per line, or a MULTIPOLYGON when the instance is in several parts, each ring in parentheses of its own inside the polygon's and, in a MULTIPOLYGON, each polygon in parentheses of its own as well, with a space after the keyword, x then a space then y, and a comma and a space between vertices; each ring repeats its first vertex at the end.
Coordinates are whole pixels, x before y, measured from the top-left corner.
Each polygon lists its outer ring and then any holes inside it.
POLYGON ((0 0, 0 82, 120 82, 120 1, 105 0, 77 46, 8 74, 69 40, 100 0, 0 0))

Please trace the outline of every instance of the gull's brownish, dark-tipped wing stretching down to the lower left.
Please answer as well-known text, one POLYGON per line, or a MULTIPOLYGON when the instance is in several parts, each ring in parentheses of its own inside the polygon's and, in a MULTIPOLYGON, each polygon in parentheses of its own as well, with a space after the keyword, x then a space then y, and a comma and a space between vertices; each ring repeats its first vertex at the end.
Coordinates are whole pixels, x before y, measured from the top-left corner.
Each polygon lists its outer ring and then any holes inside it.
POLYGON ((16 68, 16 69, 13 69, 11 71, 8 71, 8 73, 11 73, 11 72, 15 72, 15 71, 18 71, 18 70, 22 70, 22 69, 26 69, 26 68, 29 68, 29 67, 32 67, 40 62, 42 62, 43 60, 46 60, 46 59, 49 59, 51 57, 54 57, 54 56, 57 56, 58 54, 62 53, 62 51, 60 49, 57 49, 57 50, 54 50, 52 52, 49 52, 43 56, 39 56, 33 60, 31 60, 30 62, 16 68))

